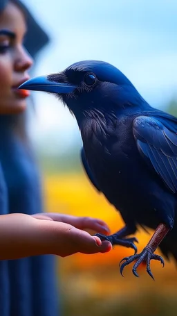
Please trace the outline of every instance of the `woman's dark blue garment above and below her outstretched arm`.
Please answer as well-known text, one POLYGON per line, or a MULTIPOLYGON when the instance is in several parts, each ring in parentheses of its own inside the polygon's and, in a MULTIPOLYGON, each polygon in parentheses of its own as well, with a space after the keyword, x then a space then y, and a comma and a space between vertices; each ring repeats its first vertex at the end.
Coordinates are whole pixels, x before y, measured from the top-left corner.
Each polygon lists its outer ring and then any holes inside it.
MULTIPOLYGON (((1 207, 1 214, 42 212, 41 185, 35 160, 28 147, 12 133, 11 128, 4 128, 3 123, 0 127, 0 161, 6 181, 3 190, 7 186, 9 204, 8 210, 6 205, 1 207)), ((2 192, 1 197, 5 195, 2 192)), ((1 316, 59 315, 54 256, 34 256, 0 264, 1 316)))

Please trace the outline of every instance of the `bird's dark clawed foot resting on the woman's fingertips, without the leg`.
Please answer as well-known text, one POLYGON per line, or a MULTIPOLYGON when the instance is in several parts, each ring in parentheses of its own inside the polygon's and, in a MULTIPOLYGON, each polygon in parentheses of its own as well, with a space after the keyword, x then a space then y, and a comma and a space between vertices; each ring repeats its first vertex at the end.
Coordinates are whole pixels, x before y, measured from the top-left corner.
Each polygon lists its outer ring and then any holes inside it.
POLYGON ((103 235, 100 233, 96 233, 94 236, 97 236, 100 238, 100 240, 108 240, 109 242, 111 242, 111 244, 114 246, 115 244, 119 244, 120 246, 124 246, 127 248, 132 248, 135 251, 135 254, 137 253, 137 247, 135 244, 133 244, 133 242, 138 242, 138 240, 133 237, 133 238, 118 238, 118 235, 116 236, 115 234, 113 235, 103 235))

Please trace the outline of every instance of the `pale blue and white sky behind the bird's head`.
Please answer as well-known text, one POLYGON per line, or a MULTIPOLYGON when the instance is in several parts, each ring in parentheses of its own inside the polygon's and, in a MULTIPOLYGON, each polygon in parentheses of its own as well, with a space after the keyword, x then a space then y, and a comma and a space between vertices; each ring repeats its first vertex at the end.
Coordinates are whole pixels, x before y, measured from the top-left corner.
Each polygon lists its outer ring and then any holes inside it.
MULTIPOLYGON (((79 60, 104 60, 118 67, 151 106, 165 108, 177 97, 176 0, 23 1, 50 36, 32 76, 59 72, 79 60)), ((37 147, 63 154, 80 146, 67 108, 49 94, 32 94, 30 133, 37 147)))

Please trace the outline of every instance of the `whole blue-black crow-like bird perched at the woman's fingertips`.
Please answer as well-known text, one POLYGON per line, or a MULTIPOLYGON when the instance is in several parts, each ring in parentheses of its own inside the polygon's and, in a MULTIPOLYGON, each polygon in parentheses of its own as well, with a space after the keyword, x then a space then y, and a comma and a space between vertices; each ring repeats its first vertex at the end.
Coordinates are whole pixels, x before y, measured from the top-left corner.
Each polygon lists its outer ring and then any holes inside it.
POLYGON ((120 272, 136 260, 150 260, 159 246, 177 260, 177 119, 149 106, 129 79, 109 63, 86 60, 64 72, 33 78, 19 88, 53 92, 75 115, 83 140, 82 162, 95 188, 120 211, 125 226, 108 237, 112 244, 132 247, 126 238, 136 227, 155 233, 139 254, 124 258, 120 272), (165 239, 164 239, 165 238, 165 239))

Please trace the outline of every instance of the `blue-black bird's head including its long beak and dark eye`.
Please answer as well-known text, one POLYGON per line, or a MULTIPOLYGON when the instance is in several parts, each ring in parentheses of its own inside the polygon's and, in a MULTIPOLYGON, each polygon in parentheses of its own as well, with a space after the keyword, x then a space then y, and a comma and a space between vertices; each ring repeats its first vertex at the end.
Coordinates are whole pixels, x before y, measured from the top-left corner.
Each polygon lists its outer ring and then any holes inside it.
POLYGON ((140 102, 140 94, 116 67, 97 60, 74 63, 57 74, 32 78, 19 89, 45 91, 62 99, 77 121, 86 114, 117 112, 140 102))

